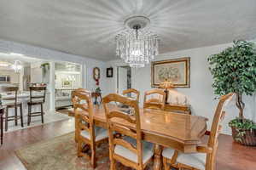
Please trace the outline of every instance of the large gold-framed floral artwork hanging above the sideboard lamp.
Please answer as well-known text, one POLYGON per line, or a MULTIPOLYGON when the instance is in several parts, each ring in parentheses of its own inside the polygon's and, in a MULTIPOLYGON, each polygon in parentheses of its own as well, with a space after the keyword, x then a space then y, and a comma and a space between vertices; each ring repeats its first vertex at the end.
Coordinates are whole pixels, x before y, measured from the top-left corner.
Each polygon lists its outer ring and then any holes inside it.
POLYGON ((151 63, 151 87, 170 81, 176 88, 190 88, 190 58, 168 59, 151 63))

